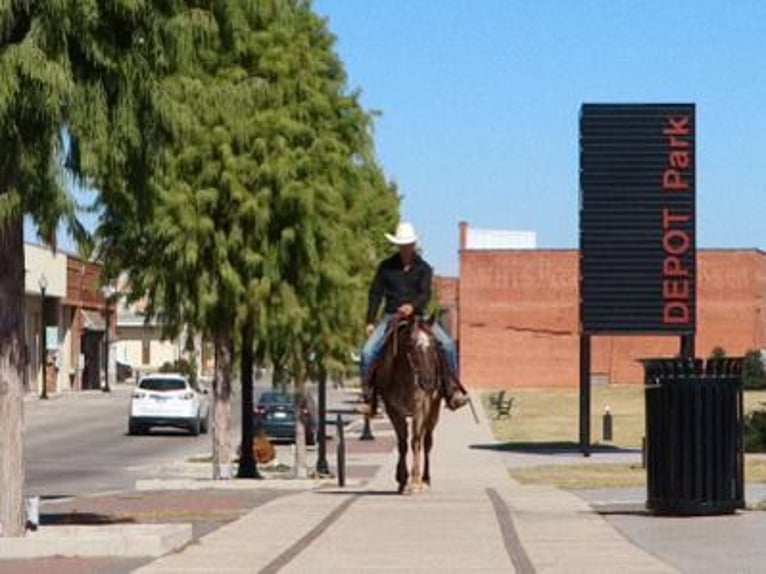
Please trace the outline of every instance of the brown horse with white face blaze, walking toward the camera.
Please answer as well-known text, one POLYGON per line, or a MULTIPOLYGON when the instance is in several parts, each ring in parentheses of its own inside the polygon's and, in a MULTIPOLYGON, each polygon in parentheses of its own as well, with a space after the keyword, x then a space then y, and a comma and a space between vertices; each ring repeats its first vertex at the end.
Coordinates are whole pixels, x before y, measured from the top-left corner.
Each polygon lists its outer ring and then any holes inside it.
POLYGON ((399 493, 421 492, 431 483, 429 453, 439 421, 444 369, 436 341, 415 318, 392 321, 373 386, 386 405, 399 449, 399 493), (407 471, 407 418, 412 419, 412 469, 407 471), (407 484, 410 479, 409 487, 407 484))

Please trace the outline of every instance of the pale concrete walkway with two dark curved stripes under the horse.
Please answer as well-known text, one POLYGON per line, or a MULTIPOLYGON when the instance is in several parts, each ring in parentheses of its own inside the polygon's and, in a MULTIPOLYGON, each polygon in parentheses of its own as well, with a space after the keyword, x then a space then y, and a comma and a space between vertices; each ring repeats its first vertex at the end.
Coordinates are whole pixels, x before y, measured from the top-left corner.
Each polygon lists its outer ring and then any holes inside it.
POLYGON ((362 487, 273 500, 137 572, 674 571, 582 499, 512 481, 486 448, 494 442, 486 420, 445 411, 428 493, 394 494, 395 455, 378 454, 382 467, 362 487))

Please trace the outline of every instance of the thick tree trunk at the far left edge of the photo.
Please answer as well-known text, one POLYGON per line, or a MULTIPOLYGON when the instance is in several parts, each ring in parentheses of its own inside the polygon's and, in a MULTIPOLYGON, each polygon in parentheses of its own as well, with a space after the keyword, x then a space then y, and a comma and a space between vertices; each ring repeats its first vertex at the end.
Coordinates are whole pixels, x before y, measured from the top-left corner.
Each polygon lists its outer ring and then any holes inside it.
POLYGON ((0 537, 23 536, 24 240, 22 218, 0 222, 0 537))

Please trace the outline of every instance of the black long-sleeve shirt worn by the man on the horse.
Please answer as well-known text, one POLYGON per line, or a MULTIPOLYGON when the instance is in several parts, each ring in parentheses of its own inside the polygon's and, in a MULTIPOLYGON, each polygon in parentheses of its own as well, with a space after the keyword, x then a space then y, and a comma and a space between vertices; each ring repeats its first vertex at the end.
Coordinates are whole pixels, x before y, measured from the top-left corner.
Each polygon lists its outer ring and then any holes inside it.
POLYGON ((419 255, 415 255, 407 271, 398 253, 384 259, 370 287, 367 323, 375 323, 384 298, 386 313, 396 313, 401 305, 409 303, 415 308, 415 313, 422 315, 431 300, 432 275, 431 266, 419 255))

